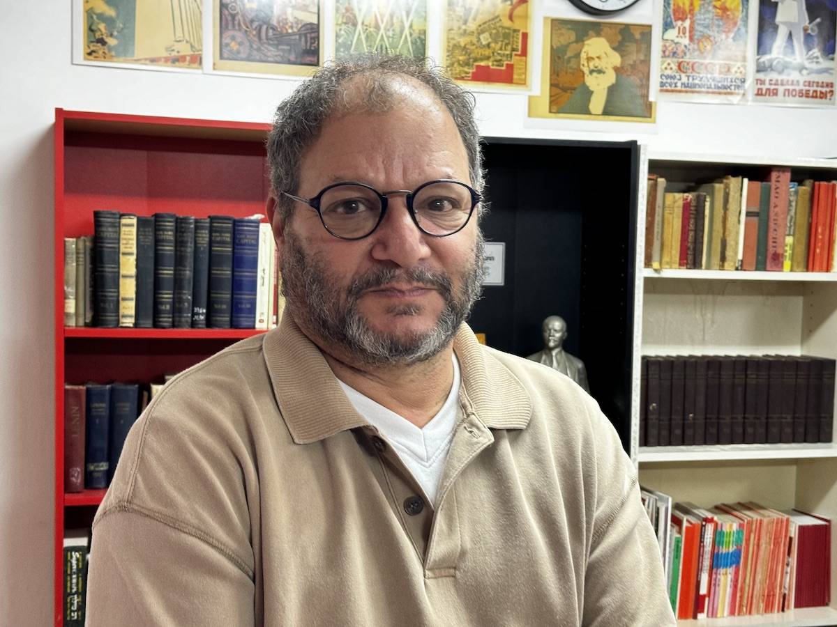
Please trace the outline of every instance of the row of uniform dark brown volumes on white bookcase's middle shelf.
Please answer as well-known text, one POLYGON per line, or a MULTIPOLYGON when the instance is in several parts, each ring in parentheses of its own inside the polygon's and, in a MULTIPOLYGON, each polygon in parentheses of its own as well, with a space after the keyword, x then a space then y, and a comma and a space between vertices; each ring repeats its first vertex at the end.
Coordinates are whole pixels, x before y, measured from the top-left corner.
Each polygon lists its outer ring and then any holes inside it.
POLYGON ((834 359, 643 356, 639 446, 830 442, 834 359))

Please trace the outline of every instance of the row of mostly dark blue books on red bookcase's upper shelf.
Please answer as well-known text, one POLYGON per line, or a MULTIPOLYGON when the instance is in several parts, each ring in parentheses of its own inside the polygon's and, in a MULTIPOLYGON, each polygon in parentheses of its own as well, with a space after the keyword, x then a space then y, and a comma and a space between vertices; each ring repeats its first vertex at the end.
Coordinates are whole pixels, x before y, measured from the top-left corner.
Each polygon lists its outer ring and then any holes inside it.
POLYGON ((64 238, 64 326, 269 329, 282 297, 260 217, 95 211, 64 238))

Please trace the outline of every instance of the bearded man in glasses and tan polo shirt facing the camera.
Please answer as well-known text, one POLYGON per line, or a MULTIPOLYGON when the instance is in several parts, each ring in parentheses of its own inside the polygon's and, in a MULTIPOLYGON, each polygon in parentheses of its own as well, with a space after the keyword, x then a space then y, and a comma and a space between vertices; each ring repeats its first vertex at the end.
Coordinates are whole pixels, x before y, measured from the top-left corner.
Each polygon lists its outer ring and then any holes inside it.
POLYGON ((88 624, 674 624, 607 419, 462 323, 482 273, 472 108, 374 58, 280 104, 285 317, 137 421, 96 514, 88 624))

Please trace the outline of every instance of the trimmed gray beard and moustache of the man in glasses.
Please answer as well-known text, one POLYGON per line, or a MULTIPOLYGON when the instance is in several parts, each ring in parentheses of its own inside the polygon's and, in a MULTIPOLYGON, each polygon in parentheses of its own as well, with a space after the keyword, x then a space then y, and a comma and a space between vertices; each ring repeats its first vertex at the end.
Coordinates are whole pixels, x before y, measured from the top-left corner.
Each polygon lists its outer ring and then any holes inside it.
MULTIPOLYGON (((326 346, 335 346, 358 365, 371 367, 409 365, 430 359, 454 338, 460 324, 468 317, 480 298, 485 275, 482 232, 477 231, 475 255, 462 276, 459 293, 453 293, 448 273, 432 272, 426 268, 388 268, 380 266, 355 277, 345 292, 329 275, 328 268, 318 255, 307 254, 299 239, 290 229, 285 230, 285 243, 280 257, 282 293, 286 308, 296 324, 326 346), (420 283, 439 290, 444 308, 433 329, 424 333, 396 337, 373 329, 360 313, 357 303, 367 289, 393 281, 420 283)), ((393 315, 416 315, 422 311, 416 304, 393 305, 393 315)))

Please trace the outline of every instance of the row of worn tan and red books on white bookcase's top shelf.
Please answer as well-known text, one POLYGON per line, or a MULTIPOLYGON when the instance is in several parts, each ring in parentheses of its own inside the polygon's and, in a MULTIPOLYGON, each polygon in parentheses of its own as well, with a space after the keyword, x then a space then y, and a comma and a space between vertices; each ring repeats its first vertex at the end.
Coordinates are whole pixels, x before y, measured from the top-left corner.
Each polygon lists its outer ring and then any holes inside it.
POLYGON ((837 272, 837 182, 725 176, 682 186, 650 175, 646 268, 837 272))

